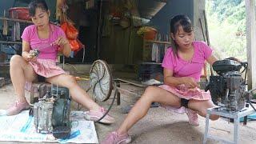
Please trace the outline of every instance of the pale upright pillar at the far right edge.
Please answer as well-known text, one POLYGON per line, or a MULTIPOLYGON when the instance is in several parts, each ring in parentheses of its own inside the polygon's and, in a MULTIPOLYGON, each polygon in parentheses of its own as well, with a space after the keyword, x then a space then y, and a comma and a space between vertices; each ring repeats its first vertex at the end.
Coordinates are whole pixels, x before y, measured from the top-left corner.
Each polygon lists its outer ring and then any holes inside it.
POLYGON ((248 90, 251 90, 256 88, 255 0, 246 0, 246 49, 248 62, 248 90))

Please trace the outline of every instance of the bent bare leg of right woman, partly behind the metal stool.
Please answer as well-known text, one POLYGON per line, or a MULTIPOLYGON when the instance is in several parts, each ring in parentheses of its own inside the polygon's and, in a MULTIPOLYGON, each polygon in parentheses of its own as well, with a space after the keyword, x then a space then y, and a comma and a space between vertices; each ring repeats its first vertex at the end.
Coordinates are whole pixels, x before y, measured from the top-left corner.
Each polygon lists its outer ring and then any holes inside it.
MULTIPOLYGON (((198 112, 199 115, 201 115, 202 117, 206 118, 206 110, 208 108, 214 107, 214 102, 212 102, 211 100, 208 101, 197 101, 197 100, 193 100, 191 99, 188 107, 192 110, 196 110, 198 112)), ((217 120, 219 118, 218 115, 214 115, 211 114, 210 115, 210 119, 211 120, 217 120)))

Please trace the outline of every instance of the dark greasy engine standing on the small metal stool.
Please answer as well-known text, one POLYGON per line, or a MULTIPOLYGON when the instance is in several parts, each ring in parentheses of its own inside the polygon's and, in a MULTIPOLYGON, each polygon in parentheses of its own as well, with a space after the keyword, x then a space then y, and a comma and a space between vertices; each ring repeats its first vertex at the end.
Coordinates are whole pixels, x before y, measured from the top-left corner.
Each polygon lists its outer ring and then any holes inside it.
POLYGON ((210 76, 206 90, 210 90, 215 105, 225 107, 226 110, 238 111, 245 107, 248 92, 246 92, 247 63, 232 59, 216 61, 213 69, 218 75, 210 76), (244 67, 242 71, 240 71, 244 67))

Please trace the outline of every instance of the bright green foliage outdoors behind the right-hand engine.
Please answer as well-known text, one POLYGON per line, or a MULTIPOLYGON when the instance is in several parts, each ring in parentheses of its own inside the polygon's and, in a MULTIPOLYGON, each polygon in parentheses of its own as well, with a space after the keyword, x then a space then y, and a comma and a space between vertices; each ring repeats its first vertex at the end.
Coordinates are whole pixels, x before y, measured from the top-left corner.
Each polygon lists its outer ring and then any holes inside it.
POLYGON ((206 0, 210 43, 220 58, 246 61, 244 0, 206 0))

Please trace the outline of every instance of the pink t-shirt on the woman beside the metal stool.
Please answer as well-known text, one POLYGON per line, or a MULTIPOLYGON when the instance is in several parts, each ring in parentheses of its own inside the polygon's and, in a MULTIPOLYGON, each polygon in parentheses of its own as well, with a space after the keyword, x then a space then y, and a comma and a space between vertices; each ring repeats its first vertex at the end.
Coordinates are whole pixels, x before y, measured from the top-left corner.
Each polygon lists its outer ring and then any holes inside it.
POLYGON ((205 42, 195 41, 192 45, 194 46, 194 55, 190 62, 179 57, 176 58, 173 49, 170 47, 166 50, 162 67, 173 70, 174 77, 192 77, 199 81, 204 63, 213 50, 205 42))

